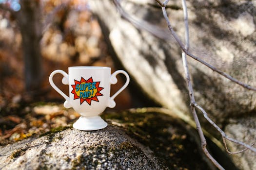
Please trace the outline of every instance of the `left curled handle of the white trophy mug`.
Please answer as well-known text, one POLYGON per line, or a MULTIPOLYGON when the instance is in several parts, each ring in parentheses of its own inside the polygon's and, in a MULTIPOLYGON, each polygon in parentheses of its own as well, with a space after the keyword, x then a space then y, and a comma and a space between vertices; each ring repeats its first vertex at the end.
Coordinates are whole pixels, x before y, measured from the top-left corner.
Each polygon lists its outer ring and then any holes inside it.
POLYGON ((54 76, 55 74, 57 74, 57 73, 63 75, 62 84, 63 84, 63 85, 69 85, 68 74, 67 74, 65 71, 60 70, 60 69, 55 70, 55 71, 53 71, 53 72, 50 74, 50 76, 49 76, 50 85, 66 100, 66 101, 64 102, 64 107, 65 107, 65 108, 70 108, 70 107, 72 107, 72 106, 71 106, 71 104, 70 104, 69 97, 68 97, 65 93, 63 93, 63 92, 53 83, 53 76, 54 76))

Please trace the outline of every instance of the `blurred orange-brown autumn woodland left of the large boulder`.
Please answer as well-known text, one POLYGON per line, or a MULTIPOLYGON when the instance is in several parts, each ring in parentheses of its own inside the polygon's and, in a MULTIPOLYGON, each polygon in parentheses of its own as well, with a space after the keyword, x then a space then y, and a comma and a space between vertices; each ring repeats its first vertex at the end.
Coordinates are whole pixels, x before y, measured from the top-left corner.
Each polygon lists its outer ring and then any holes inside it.
MULTIPOLYGON (((79 117, 72 109, 59 109, 64 99, 48 82, 53 70, 68 72, 70 66, 117 69, 86 0, 0 0, 1 144, 65 126, 79 117)), ((54 78, 68 94, 62 76, 54 78)), ((122 85, 121 80, 112 85, 111 93, 122 85)), ((116 109, 132 107, 129 90, 116 102, 116 109)))

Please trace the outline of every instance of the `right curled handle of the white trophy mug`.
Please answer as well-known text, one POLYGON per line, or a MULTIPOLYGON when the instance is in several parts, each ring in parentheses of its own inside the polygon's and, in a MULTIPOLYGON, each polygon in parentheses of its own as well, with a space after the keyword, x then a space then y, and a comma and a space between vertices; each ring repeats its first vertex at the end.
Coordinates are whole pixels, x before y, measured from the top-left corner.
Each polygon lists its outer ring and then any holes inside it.
POLYGON ((117 71, 115 71, 112 75, 111 75, 111 77, 110 77, 110 84, 111 85, 114 85, 114 84, 116 84, 117 82, 118 82, 118 79, 117 79, 117 75, 118 74, 124 74, 125 75, 125 77, 126 77, 126 82, 125 82, 125 84, 112 96, 112 97, 110 97, 110 99, 109 99, 109 102, 108 102, 108 107, 110 107, 110 108, 114 108, 115 106, 116 106, 116 102, 114 101, 114 99, 117 97, 117 95, 119 94, 119 93, 121 93, 126 87, 127 87, 127 85, 129 84, 129 82, 130 82, 130 77, 129 77, 129 75, 127 74, 127 72, 125 72, 124 70, 117 70, 117 71))

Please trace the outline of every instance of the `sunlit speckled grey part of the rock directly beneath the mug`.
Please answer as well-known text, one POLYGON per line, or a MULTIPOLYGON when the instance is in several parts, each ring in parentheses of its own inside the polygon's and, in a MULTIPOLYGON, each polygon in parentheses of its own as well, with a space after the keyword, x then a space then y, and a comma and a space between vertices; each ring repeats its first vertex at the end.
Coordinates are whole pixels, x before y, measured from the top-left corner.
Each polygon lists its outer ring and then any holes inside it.
POLYGON ((150 150, 113 126, 84 132, 67 129, 1 148, 0 169, 160 170, 150 150))

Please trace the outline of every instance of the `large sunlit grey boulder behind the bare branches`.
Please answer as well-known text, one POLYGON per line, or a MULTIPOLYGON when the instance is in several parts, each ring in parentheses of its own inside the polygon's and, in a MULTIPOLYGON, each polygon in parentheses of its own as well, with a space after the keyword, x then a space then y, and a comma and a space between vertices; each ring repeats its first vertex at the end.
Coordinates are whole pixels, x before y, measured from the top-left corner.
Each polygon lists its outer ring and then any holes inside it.
MULTIPOLYGON (((182 113, 190 115, 181 50, 167 30, 161 8, 155 0, 121 1, 122 8, 133 17, 136 24, 144 27, 142 30, 120 17, 111 0, 89 2, 90 8, 99 18, 110 51, 129 72, 138 89, 183 119, 182 113)), ((191 53, 255 87, 256 1, 186 2, 191 53)), ((167 13, 174 30, 184 40, 181 0, 169 1, 167 13)), ((231 83, 191 58, 188 62, 196 101, 221 128, 229 124, 229 118, 240 119, 256 112, 255 91, 231 83)), ((209 127, 202 114, 198 115, 204 128, 217 136, 217 131, 209 127)), ((246 121, 249 123, 249 119, 243 122, 247 124, 246 121)), ((256 125, 256 121, 250 123, 256 125)), ((243 134, 250 131, 246 125, 242 129, 243 134)), ((256 166, 255 159, 252 156, 244 161, 256 166)))

